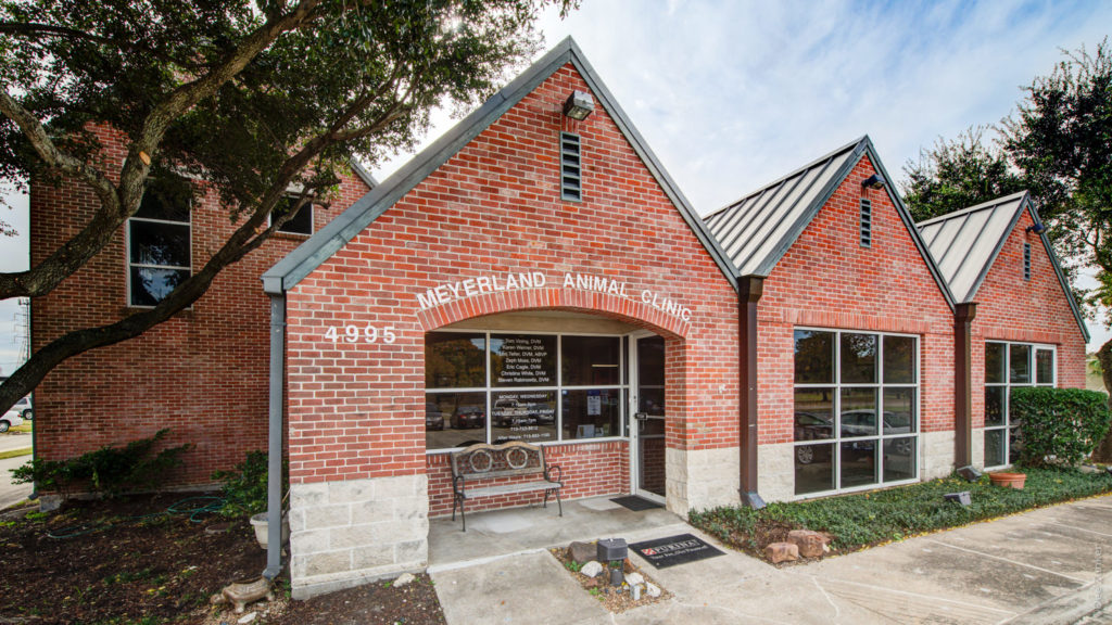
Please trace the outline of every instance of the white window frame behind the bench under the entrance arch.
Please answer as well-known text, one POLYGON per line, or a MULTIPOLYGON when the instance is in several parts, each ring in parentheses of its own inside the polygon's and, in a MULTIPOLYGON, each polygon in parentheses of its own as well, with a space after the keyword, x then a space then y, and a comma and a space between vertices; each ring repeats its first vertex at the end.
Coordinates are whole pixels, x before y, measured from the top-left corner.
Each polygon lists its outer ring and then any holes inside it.
MULTIPOLYGON (((473 334, 473 335, 484 335, 485 337, 485 348, 484 348, 484 366, 485 366, 485 387, 460 387, 460 388, 428 388, 427 385, 421 383, 423 395, 427 396, 429 394, 448 394, 448 393, 483 393, 486 399, 486 423, 484 424, 484 435, 487 444, 490 444, 490 430, 492 421, 490 409, 494 406, 494 395, 498 393, 540 393, 540 391, 552 391, 556 394, 556 420, 554 427, 556 428, 556 439, 555 440, 539 440, 537 443, 532 443, 532 445, 538 446, 553 446, 553 445, 589 445, 593 443, 610 443, 616 440, 629 440, 629 377, 626 374, 626 367, 628 366, 628 358, 626 355, 627 344, 622 340, 628 337, 628 335, 616 335, 608 333, 546 333, 546 331, 535 331, 535 330, 513 330, 513 329, 497 329, 497 330, 480 330, 480 329, 467 329, 467 328, 440 328, 435 330, 429 330, 425 333, 429 334, 473 334), (556 337, 556 384, 549 386, 493 386, 490 374, 490 337, 492 335, 518 335, 518 336, 555 336, 556 337), (604 337, 604 338, 615 338, 618 339, 618 384, 615 385, 564 385, 564 337, 565 336, 583 336, 583 337, 604 337), (597 436, 592 438, 564 438, 564 390, 609 390, 617 389, 620 393, 620 413, 618 415, 618 424, 620 426, 622 434, 619 436, 597 436)), ((424 371, 424 360, 421 363, 421 370, 424 371)), ((454 452, 459 452, 466 449, 466 447, 439 447, 436 449, 429 449, 426 447, 425 455, 433 454, 450 454, 454 452)))

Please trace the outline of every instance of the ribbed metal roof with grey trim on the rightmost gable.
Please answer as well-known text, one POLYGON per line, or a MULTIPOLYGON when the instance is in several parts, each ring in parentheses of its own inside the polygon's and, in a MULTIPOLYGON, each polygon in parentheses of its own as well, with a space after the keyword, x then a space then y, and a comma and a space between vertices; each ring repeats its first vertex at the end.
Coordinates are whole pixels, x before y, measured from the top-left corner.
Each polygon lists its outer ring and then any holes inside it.
MULTIPOLYGON (((1035 224, 1042 224, 1030 194, 1020 191, 927 219, 917 225, 942 277, 950 285, 950 290, 957 301, 974 301, 977 290, 996 261, 996 257, 1000 256, 1007 237, 1020 222, 1024 210, 1031 211, 1031 218, 1035 224)), ((1073 290, 1065 279, 1062 266, 1059 265, 1050 239, 1046 238, 1045 231, 1040 232, 1039 238, 1088 343, 1089 328, 1085 327, 1073 290)))

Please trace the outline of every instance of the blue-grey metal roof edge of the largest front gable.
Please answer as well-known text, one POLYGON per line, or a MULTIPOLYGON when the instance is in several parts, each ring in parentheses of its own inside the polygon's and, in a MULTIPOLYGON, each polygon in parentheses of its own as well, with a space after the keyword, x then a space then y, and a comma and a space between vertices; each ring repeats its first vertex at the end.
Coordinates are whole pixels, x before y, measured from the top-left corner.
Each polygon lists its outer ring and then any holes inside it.
POLYGON ((736 289, 737 277, 733 266, 726 260, 714 237, 706 230, 698 214, 691 202, 679 191, 656 155, 648 148, 641 132, 626 117, 609 89, 595 73, 594 68, 583 56, 583 51, 568 37, 548 51, 524 73, 490 97, 477 110, 464 118, 448 132, 421 150, 393 176, 374 187, 367 195, 358 199, 347 210, 336 216, 324 228, 302 242, 285 258, 275 264, 262 275, 262 289, 269 294, 281 294, 294 287, 312 272, 348 241, 359 235, 395 202, 413 190, 438 167, 447 162, 471 139, 496 121, 504 112, 514 107, 527 95, 533 92, 548 77, 568 62, 575 66, 587 87, 602 105, 606 113, 617 125, 623 136, 634 151, 645 163, 645 167, 656 179, 665 195, 679 211, 684 221, 692 229, 699 242, 714 259, 729 284, 736 289))

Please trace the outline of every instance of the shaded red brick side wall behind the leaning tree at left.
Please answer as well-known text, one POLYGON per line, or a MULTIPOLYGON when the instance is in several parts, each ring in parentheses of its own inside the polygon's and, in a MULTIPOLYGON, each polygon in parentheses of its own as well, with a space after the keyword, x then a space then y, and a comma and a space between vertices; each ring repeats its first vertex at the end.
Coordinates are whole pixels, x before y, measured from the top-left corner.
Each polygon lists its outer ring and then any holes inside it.
MULTIPOLYGON (((126 155, 125 138, 97 131, 109 163, 126 155)), ((109 169, 111 167, 109 166, 109 169)), ((320 227, 367 191, 349 176, 320 227)), ((77 234, 97 209, 83 186, 31 187, 31 261, 40 262, 77 234)), ((235 229, 216 195, 192 210, 193 267, 200 267, 235 229)), ((126 228, 126 226, 125 226, 126 228)), ((32 341, 41 349, 67 331, 111 324, 136 309, 127 305, 125 228, 105 249, 51 294, 32 301, 32 341)), ((56 368, 34 391, 38 454, 68 458, 171 428, 168 445, 193 443, 186 466, 168 485, 203 484, 267 440, 269 304, 259 277, 305 237, 278 235, 227 268, 190 310, 142 336, 77 356, 56 368)))

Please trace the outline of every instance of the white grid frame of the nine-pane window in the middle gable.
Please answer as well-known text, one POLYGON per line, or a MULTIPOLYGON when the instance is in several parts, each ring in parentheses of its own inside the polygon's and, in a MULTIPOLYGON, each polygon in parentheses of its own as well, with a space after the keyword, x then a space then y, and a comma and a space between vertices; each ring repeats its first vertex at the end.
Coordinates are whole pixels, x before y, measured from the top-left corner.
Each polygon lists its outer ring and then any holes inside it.
POLYGON ((922 478, 922 435, 923 435, 923 340, 921 335, 904 334, 904 333, 885 333, 885 331, 874 331, 864 329, 852 329, 852 328, 822 328, 815 326, 793 326, 792 327, 792 424, 793 424, 793 440, 792 440, 792 477, 793 477, 793 498, 795 499, 810 499, 813 497, 827 497, 831 495, 838 495, 845 493, 857 493, 862 490, 875 490, 876 488, 885 488, 888 486, 897 486, 903 484, 914 484, 920 482, 922 478), (833 380, 830 383, 814 383, 814 384, 796 384, 795 383, 795 333, 798 330, 803 331, 814 331, 814 333, 831 333, 834 335, 834 354, 831 366, 833 367, 833 380), (842 383, 842 335, 873 335, 876 336, 876 381, 872 384, 866 383, 842 383), (884 381, 884 338, 885 337, 898 337, 898 338, 910 338, 914 341, 915 354, 912 357, 915 371, 914 383, 885 383, 884 381), (833 436, 825 439, 812 439, 812 440, 795 440, 794 429, 795 429, 795 391, 801 388, 824 388, 831 389, 831 409, 834 414, 835 420, 832 424, 833 436), (842 436, 842 389, 843 388, 873 388, 876 393, 876 434, 865 435, 865 436, 842 436), (897 433, 897 434, 884 434, 884 389, 887 388, 913 388, 915 390, 915 428, 914 431, 910 433, 897 433), (915 475, 913 477, 904 479, 894 479, 891 482, 884 480, 884 442, 895 438, 913 438, 915 440, 915 475), (863 484, 861 486, 851 486, 847 488, 842 488, 842 444, 843 443, 854 443, 854 442, 868 442, 875 440, 877 446, 877 463, 876 463, 876 482, 871 484, 863 484), (794 493, 795 488, 795 467, 796 467, 796 448, 805 445, 830 445, 832 446, 831 462, 834 467, 834 488, 828 490, 816 490, 814 493, 794 493))

